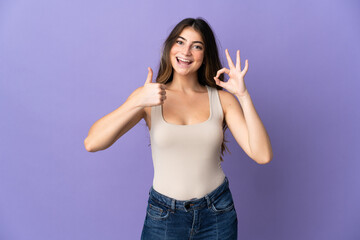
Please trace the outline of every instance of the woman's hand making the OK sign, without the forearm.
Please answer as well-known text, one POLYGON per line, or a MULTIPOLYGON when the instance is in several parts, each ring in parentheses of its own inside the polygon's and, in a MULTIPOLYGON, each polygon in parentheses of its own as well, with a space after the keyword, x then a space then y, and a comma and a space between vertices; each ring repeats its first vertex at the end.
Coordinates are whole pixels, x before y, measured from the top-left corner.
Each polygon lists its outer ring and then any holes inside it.
POLYGON ((234 65, 231 57, 229 55, 229 51, 225 49, 226 58, 228 61, 229 68, 222 68, 217 71, 216 76, 214 77, 215 82, 220 87, 225 88, 230 93, 237 95, 239 97, 244 96, 247 89, 244 82, 245 74, 249 68, 248 60, 245 61, 245 68, 241 71, 241 64, 240 64, 240 50, 236 52, 236 65, 234 65), (227 82, 221 81, 219 79, 220 74, 226 73, 229 75, 229 80, 227 82))

